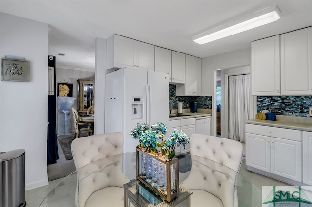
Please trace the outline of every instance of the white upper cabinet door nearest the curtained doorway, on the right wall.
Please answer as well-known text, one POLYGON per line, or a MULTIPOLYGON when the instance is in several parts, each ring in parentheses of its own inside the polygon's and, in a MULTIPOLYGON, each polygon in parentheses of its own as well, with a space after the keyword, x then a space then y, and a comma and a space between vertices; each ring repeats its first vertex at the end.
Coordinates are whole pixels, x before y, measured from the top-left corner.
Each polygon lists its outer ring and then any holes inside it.
POLYGON ((279 35, 252 42, 253 96, 280 95, 279 35))

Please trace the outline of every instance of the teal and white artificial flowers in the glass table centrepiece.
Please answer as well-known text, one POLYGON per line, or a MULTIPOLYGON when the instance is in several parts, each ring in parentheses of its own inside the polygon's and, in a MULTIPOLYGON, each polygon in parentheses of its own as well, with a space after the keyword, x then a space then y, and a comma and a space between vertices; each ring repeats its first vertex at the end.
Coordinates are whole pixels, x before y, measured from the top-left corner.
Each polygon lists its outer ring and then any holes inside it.
POLYGON ((175 148, 190 143, 190 138, 182 130, 174 130, 169 138, 163 140, 167 133, 167 127, 162 122, 155 122, 151 127, 144 123, 137 123, 130 135, 135 140, 139 140, 138 148, 143 148, 147 152, 158 154, 157 148, 161 147, 161 155, 167 155, 171 160, 175 155, 175 148), (161 142, 159 142, 161 140, 161 142))

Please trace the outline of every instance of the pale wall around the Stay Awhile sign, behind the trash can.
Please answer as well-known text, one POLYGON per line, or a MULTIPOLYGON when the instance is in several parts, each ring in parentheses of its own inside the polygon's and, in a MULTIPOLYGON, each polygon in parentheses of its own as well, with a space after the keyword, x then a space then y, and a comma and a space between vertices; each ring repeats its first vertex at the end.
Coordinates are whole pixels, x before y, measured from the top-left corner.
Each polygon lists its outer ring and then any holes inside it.
POLYGON ((0 81, 0 151, 25 149, 26 190, 48 184, 48 24, 1 13, 0 56, 30 61, 30 82, 0 81))

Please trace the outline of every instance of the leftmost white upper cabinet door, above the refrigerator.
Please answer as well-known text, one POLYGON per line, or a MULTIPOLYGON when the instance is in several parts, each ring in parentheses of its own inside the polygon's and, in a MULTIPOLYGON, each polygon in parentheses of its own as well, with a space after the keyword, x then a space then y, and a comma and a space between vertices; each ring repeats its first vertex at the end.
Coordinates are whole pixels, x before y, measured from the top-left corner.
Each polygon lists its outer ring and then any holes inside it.
POLYGON ((137 40, 114 35, 114 67, 136 67, 137 40))

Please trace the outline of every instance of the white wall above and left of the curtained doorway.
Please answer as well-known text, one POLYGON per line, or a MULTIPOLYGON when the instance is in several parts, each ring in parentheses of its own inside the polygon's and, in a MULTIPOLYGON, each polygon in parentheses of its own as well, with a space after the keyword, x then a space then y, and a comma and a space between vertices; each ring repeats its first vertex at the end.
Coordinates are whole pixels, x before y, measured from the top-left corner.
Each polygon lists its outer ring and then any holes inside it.
MULTIPOLYGON (((211 135, 216 136, 216 100, 215 100, 216 70, 234 68, 238 66, 246 66, 250 64, 251 64, 251 48, 227 52, 202 59, 201 95, 212 96, 212 119, 210 130, 211 135)), ((221 122, 221 126, 222 124, 224 125, 224 123, 221 122)))

